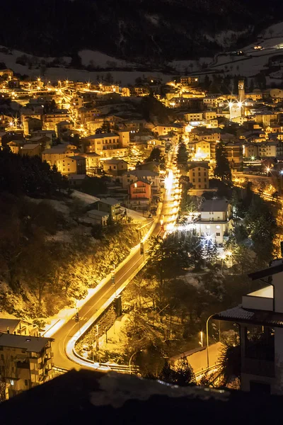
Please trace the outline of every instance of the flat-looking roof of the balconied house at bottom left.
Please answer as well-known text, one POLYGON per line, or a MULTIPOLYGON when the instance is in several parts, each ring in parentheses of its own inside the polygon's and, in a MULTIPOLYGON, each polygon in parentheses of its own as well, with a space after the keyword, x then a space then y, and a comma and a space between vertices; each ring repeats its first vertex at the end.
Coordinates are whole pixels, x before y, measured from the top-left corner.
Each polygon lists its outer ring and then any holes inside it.
POLYGON ((42 336, 0 334, 0 346, 23 348, 28 352, 39 353, 48 341, 54 340, 52 338, 42 338, 42 336))

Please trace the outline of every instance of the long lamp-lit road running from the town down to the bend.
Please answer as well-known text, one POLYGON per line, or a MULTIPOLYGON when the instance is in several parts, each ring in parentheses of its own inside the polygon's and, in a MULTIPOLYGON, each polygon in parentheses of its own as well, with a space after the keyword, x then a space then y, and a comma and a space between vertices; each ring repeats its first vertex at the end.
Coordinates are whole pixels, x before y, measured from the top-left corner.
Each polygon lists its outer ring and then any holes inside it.
MULTIPOLYGON (((176 171, 175 167, 173 169, 176 171)), ((171 181, 168 183, 168 188, 164 196, 161 214, 162 220, 164 222, 164 227, 172 226, 172 223, 175 221, 178 212, 178 200, 180 198, 179 190, 174 186, 173 182, 173 170, 171 169, 171 181)), ((156 236, 161 233, 163 228, 161 228, 160 220, 156 222, 152 236, 156 236)), ((146 252, 146 246, 144 246, 144 252, 146 252)), ((146 255, 146 254, 144 254, 146 255)), ((96 313, 100 307, 103 306, 105 301, 107 301, 112 295, 115 295, 115 290, 118 290, 125 283, 127 278, 132 276, 134 271, 137 271, 141 263, 144 262, 144 255, 140 254, 139 251, 133 256, 130 256, 128 261, 122 265, 120 269, 117 269, 115 273, 115 285, 112 285, 111 279, 106 280, 105 284, 98 290, 97 293, 91 297, 86 304, 81 307, 79 310, 80 321, 75 322, 74 319, 69 320, 63 326, 56 331, 52 336, 54 342, 52 343, 52 351, 54 353, 54 365, 58 368, 80 368, 79 365, 76 365, 71 361, 65 352, 65 348, 68 344, 69 339, 71 339, 77 331, 79 331, 79 326, 85 324, 93 314, 96 313)))

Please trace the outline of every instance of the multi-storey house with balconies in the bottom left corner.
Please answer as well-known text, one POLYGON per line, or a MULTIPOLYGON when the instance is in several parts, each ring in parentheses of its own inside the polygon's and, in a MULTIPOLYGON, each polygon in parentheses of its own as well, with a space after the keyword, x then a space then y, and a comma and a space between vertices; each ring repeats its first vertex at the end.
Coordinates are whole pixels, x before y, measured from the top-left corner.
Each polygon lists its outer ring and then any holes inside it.
POLYGON ((0 333, 1 378, 7 398, 53 376, 51 338, 0 333))

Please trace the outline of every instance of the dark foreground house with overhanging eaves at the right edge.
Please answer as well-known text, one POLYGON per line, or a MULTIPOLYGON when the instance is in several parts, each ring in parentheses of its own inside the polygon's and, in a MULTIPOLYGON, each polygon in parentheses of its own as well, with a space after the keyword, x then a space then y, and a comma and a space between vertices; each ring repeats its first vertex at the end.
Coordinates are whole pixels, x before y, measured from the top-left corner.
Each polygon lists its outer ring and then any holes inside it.
POLYGON ((283 260, 250 273, 251 280, 266 282, 242 297, 241 305, 214 314, 213 319, 238 324, 241 345, 241 390, 282 394, 283 260))

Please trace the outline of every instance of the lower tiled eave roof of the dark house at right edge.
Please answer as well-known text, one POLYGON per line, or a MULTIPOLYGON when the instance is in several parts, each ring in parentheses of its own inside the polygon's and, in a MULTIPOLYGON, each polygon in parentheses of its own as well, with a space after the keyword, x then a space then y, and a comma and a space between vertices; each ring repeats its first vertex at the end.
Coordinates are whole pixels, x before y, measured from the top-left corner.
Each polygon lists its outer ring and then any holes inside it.
POLYGON ((229 322, 283 327, 283 313, 268 312, 266 310, 250 310, 243 308, 241 305, 214 314, 213 318, 227 320, 229 322))

